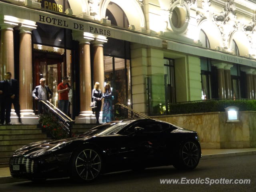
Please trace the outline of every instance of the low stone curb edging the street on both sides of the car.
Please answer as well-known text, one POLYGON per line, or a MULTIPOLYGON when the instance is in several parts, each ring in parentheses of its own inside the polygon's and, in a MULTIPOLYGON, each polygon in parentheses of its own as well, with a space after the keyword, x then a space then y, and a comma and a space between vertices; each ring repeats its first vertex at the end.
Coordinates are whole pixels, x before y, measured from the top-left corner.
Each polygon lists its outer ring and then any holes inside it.
MULTIPOLYGON (((225 157, 254 155, 254 154, 256 154, 256 150, 254 150, 254 151, 244 151, 244 152, 223 153, 223 154, 202 155, 200 161, 201 160, 209 160, 209 159, 225 158, 225 157)), ((0 177, 0 184, 23 182, 23 181, 29 181, 29 180, 13 178, 12 176, 0 177)))

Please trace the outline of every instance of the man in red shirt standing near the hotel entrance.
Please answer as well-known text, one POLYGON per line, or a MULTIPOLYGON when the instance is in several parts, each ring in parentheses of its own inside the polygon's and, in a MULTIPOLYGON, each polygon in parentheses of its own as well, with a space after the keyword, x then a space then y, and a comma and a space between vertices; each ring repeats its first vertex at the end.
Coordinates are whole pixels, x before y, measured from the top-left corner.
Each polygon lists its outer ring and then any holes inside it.
POLYGON ((58 108, 66 115, 68 114, 68 92, 70 90, 67 83, 68 77, 63 77, 62 83, 58 84, 58 108))

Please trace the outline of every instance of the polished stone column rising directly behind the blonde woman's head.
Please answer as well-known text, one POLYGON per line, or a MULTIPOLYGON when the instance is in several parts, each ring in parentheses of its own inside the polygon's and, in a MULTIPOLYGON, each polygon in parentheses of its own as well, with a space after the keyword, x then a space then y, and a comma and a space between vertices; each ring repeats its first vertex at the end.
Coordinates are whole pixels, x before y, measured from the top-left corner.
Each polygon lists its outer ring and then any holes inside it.
POLYGON ((100 89, 104 90, 104 58, 103 58, 103 44, 107 39, 95 38, 92 42, 94 50, 93 59, 93 84, 100 83, 100 89))

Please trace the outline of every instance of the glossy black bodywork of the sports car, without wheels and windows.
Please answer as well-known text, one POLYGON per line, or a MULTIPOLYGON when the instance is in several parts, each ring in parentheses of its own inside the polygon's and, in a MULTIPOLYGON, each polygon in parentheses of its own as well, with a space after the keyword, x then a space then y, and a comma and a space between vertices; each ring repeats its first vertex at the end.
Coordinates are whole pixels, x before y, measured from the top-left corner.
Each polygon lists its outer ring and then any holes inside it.
MULTIPOLYGON (((129 126, 144 121, 148 120, 134 120, 129 126)), ((34 173, 27 174, 24 171, 14 171, 12 170, 12 164, 10 164, 10 172, 13 177, 28 179, 66 177, 70 174, 72 154, 76 150, 88 146, 100 153, 104 162, 102 173, 128 170, 137 166, 167 166, 173 163, 174 158, 178 155, 180 145, 186 140, 194 140, 200 147, 196 132, 174 125, 170 125, 170 128, 162 132, 149 132, 146 134, 85 135, 78 138, 46 141, 43 144, 38 144, 31 148, 28 146, 24 150, 16 151, 13 155, 13 158, 26 156, 33 159, 36 164, 34 173), (37 155, 38 150, 44 150, 47 146, 69 141, 72 142, 59 150, 42 156, 37 155)))

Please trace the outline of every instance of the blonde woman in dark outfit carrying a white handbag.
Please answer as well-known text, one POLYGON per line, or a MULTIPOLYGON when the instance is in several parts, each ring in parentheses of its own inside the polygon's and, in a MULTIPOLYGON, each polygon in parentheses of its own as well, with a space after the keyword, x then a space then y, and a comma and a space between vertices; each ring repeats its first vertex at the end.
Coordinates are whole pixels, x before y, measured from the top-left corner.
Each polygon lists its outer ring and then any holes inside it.
POLYGON ((101 109, 102 91, 100 90, 100 83, 96 82, 94 84, 94 89, 92 90, 92 101, 97 102, 97 107, 94 108, 96 123, 99 124, 100 109, 101 109))

